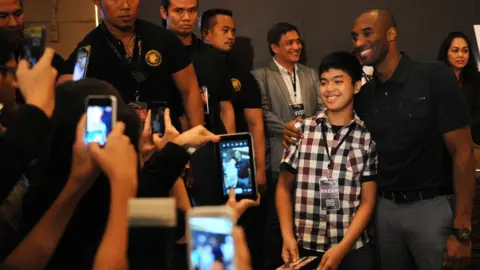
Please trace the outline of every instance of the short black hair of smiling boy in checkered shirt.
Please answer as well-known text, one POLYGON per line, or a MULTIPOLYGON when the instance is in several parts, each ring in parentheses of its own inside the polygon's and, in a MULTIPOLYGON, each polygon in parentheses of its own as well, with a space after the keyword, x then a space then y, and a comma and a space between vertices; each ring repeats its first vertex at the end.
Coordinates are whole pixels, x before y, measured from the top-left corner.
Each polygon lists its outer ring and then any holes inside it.
POLYGON ((362 80, 362 66, 357 57, 350 52, 339 51, 325 56, 318 67, 318 74, 321 76, 322 73, 332 68, 347 73, 352 78, 352 83, 362 80))

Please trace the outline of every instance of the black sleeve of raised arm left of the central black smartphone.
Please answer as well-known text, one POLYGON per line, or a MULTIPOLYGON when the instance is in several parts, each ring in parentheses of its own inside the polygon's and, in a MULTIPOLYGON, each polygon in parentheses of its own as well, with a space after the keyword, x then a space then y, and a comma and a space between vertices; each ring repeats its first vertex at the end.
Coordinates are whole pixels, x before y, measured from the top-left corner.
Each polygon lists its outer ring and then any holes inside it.
POLYGON ((139 197, 168 196, 190 156, 182 147, 168 143, 145 163, 141 171, 139 197))

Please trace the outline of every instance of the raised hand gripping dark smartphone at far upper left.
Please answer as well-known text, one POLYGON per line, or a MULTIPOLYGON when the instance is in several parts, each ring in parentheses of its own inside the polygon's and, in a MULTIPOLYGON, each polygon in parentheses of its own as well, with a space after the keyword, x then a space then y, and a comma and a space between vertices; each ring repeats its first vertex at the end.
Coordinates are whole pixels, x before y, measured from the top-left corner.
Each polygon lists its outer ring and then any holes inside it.
POLYGON ((55 108, 55 80, 57 70, 52 67, 55 51, 46 48, 38 63, 30 68, 28 62, 20 60, 17 67, 17 83, 27 104, 40 108, 48 117, 55 108))

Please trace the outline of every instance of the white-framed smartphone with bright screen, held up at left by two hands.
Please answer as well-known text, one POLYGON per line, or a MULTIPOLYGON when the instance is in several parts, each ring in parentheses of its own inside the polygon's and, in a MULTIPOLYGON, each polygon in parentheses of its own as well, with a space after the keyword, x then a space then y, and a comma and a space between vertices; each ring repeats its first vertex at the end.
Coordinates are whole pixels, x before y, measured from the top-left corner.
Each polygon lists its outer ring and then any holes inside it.
POLYGON ((85 143, 105 145, 108 134, 117 121, 117 98, 115 96, 91 95, 85 100, 87 126, 85 143))

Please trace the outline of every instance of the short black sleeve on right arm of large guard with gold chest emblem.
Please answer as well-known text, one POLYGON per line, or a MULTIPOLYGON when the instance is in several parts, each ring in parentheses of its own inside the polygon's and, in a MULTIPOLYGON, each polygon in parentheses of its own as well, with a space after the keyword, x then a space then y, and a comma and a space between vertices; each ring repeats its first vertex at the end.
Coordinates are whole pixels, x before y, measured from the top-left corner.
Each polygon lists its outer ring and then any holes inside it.
POLYGON ((187 50, 180 39, 170 31, 166 32, 165 38, 166 40, 164 42, 167 42, 168 46, 163 57, 167 60, 168 72, 170 74, 175 74, 186 68, 192 62, 190 61, 187 50))

